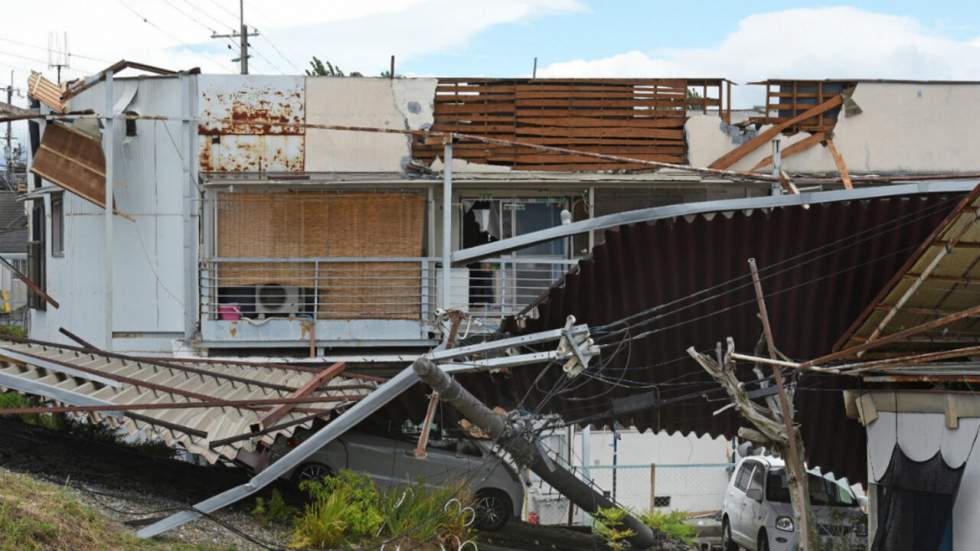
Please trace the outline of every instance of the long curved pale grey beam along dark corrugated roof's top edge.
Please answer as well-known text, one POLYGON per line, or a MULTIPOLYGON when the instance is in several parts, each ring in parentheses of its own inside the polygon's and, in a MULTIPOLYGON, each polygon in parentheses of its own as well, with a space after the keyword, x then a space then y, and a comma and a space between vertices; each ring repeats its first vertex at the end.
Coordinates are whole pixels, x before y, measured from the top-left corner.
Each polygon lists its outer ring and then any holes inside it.
POLYGON ((854 201, 874 199, 879 197, 894 197, 898 195, 914 195, 920 193, 961 193, 976 187, 976 180, 921 182, 901 185, 878 186, 853 190, 818 191, 800 193, 799 195, 775 195, 766 197, 749 197, 744 199, 721 199, 701 203, 684 203, 664 207, 631 210, 616 214, 607 214, 597 218, 572 222, 545 230, 526 233, 509 239, 501 239, 486 245, 478 245, 460 249, 453 253, 454 264, 465 264, 497 256, 506 252, 522 249, 538 243, 569 237, 590 231, 605 230, 626 224, 638 222, 653 222, 664 218, 691 216, 709 212, 730 210, 762 209, 774 207, 793 207, 804 205, 819 205, 836 201, 854 201))

